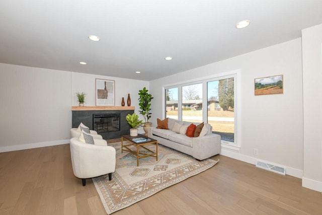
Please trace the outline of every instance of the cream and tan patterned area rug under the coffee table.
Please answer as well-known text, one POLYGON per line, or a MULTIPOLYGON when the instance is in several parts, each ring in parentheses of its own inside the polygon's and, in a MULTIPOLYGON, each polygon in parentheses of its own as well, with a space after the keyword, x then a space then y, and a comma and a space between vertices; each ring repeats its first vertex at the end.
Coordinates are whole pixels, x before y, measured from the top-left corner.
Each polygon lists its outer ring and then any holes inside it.
MULTIPOLYGON (((116 169, 112 173, 112 180, 109 181, 108 175, 93 178, 108 214, 197 175, 219 161, 197 161, 191 156, 158 145, 158 161, 155 161, 155 157, 148 156, 141 158, 137 167, 136 156, 130 152, 121 153, 121 142, 109 146, 116 149, 116 169)), ((147 145, 147 148, 154 151, 155 145, 147 145)), ((140 152, 148 153, 143 149, 140 152)))

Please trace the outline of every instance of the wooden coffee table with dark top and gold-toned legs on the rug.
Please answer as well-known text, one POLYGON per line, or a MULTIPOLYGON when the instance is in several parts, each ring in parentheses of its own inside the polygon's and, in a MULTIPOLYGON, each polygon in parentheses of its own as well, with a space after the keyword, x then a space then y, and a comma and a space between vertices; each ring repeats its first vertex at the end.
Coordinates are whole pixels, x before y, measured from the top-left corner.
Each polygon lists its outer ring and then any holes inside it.
POLYGON ((122 153, 123 153, 123 151, 131 152, 131 153, 133 153, 133 155, 136 155, 137 166, 139 166, 139 159, 140 158, 145 158, 147 156, 155 157, 156 161, 157 161, 157 140, 152 139, 152 138, 147 137, 147 136, 142 135, 142 134, 138 134, 137 136, 122 135, 122 153), (132 141, 132 139, 138 138, 138 137, 149 138, 150 140, 147 140, 147 141, 144 141, 144 142, 139 142, 139 143, 136 143, 136 142, 132 141), (123 145, 123 139, 128 140, 130 142, 130 144, 123 145), (144 147, 145 145, 148 145, 148 144, 155 144, 155 152, 153 152, 153 151, 147 149, 146 147, 144 147), (129 146, 132 146, 132 145, 136 146, 136 151, 133 151, 133 150, 131 150, 129 148, 129 146), (124 149, 123 149, 123 147, 124 147, 124 149), (139 152, 139 147, 142 147, 143 149, 149 151, 150 153, 145 154, 145 153, 139 152))

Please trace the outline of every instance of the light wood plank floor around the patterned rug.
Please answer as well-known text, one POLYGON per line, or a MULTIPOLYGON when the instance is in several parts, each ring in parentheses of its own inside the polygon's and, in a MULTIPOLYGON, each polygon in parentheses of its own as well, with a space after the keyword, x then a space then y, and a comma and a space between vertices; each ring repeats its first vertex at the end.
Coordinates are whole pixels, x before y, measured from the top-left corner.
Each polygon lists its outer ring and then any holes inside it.
MULTIPOLYGON (((113 214, 322 214, 301 180, 224 156, 209 170, 113 214)), ((82 186, 69 145, 0 153, 0 214, 106 214, 92 180, 82 186)))

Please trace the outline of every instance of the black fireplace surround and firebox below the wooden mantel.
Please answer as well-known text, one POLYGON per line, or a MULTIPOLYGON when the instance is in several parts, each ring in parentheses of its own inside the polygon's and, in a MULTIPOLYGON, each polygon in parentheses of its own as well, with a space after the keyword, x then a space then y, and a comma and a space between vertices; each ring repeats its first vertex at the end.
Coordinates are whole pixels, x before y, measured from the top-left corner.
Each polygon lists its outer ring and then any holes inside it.
POLYGON ((82 122, 91 130, 96 130, 103 139, 121 138, 130 133, 130 125, 126 115, 134 110, 82 110, 72 111, 72 127, 76 128, 82 122))

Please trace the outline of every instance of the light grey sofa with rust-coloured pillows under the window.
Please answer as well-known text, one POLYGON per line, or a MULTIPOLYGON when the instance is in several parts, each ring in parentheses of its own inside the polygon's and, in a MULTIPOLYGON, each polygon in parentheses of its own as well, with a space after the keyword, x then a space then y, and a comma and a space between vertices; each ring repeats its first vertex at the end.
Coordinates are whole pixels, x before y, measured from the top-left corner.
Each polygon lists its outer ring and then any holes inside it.
POLYGON ((169 129, 150 127, 148 129, 148 137, 156 139, 158 144, 188 154, 197 160, 204 160, 220 154, 221 137, 218 134, 212 133, 212 126, 210 124, 204 124, 202 132, 205 135, 188 137, 184 132, 178 133, 172 130, 176 122, 185 126, 190 125, 191 123, 194 123, 195 125, 200 124, 169 118, 169 129))

